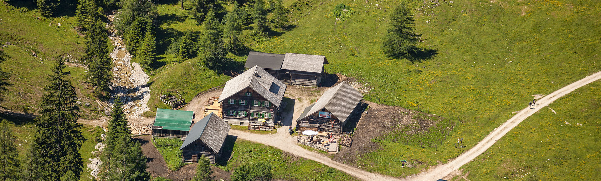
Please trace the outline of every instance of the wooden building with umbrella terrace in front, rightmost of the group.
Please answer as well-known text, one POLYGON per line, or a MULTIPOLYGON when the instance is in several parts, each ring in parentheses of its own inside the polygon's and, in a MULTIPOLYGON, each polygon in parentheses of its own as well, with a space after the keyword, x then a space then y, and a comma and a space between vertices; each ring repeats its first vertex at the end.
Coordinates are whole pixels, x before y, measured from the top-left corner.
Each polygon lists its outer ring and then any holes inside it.
POLYGON ((342 82, 323 92, 314 104, 305 108, 296 120, 299 129, 317 129, 315 131, 341 134, 344 124, 359 106, 363 95, 349 83, 342 82))

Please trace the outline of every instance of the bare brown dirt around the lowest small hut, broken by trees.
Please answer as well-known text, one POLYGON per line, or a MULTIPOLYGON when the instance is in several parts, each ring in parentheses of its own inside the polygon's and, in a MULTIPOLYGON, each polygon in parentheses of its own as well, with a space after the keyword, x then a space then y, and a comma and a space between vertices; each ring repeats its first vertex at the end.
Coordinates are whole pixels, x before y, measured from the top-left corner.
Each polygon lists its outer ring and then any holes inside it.
MULTIPOLYGON (((160 155, 159 150, 150 142, 150 135, 135 137, 135 139, 142 143, 142 152, 148 158, 148 168, 146 168, 146 171, 150 172, 153 177, 161 176, 174 181, 192 180, 198 164, 187 164, 180 168, 180 170, 171 171, 167 168, 165 159, 160 155)), ((221 170, 221 168, 212 168, 213 174, 211 176, 215 177, 215 180, 230 180, 231 173, 221 170)))

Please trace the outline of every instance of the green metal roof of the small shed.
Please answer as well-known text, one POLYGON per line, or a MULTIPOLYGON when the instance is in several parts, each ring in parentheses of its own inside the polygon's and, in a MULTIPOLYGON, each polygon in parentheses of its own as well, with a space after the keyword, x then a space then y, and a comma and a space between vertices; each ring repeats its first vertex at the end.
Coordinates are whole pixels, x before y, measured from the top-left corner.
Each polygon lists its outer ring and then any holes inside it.
POLYGON ((157 108, 153 126, 163 126, 163 129, 190 131, 192 117, 194 117, 193 111, 157 108))

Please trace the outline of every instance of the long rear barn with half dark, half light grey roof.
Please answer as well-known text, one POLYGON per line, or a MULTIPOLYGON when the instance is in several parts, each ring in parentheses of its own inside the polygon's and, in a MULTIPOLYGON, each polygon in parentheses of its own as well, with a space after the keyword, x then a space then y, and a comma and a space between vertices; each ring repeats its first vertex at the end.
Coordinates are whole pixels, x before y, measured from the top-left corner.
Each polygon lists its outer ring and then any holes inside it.
POLYGON ((319 86, 325 74, 324 64, 328 64, 328 59, 323 55, 250 52, 244 67, 258 65, 287 85, 319 86))

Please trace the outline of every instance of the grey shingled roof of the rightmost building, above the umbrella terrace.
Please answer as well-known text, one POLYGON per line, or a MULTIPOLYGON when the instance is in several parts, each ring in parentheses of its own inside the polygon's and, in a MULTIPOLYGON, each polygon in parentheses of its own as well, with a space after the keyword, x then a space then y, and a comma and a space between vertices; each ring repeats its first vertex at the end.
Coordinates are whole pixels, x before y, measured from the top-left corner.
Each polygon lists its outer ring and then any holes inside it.
POLYGON ((326 108, 334 116, 338 117, 341 122, 345 122, 361 99, 363 99, 363 95, 345 81, 323 92, 322 97, 315 104, 310 105, 311 108, 305 108, 305 111, 303 111, 301 117, 297 120, 301 120, 308 115, 322 110, 322 108, 326 108), (310 110, 307 111, 307 109, 310 110))

